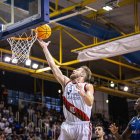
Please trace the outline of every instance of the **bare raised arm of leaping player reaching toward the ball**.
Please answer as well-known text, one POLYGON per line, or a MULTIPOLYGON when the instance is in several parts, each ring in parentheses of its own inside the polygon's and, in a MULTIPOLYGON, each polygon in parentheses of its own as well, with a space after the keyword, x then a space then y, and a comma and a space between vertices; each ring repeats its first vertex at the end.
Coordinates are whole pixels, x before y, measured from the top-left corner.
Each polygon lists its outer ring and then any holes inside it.
POLYGON ((65 83, 69 80, 69 78, 64 76, 62 74, 61 70, 55 64, 54 59, 48 50, 48 45, 50 44, 50 41, 48 41, 47 43, 44 42, 43 40, 38 40, 38 41, 39 41, 39 44, 41 45, 41 47, 43 48, 47 62, 49 64, 49 66, 51 67, 55 78, 62 85, 62 87, 64 87, 65 83))

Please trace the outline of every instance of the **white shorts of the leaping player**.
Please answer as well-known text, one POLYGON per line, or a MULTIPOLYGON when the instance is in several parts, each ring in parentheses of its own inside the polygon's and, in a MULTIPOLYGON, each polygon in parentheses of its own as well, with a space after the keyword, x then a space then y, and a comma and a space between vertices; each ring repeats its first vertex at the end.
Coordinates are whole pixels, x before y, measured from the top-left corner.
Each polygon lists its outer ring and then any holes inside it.
POLYGON ((91 140, 90 122, 63 122, 58 140, 91 140))

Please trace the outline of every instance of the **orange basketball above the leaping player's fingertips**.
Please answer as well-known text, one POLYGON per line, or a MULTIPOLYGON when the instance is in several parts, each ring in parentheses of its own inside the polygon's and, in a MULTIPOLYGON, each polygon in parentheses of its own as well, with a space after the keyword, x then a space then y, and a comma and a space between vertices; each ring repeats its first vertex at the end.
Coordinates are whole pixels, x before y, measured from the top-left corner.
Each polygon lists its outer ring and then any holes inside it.
POLYGON ((50 26, 47 24, 37 27, 36 32, 39 39, 47 39, 52 33, 50 26))

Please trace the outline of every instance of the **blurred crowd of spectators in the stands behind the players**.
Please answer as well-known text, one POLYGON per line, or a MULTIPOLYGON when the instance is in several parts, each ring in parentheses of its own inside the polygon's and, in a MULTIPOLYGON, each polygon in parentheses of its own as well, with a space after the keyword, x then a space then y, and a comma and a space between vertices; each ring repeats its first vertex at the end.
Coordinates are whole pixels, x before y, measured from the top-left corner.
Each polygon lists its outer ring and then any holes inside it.
MULTIPOLYGON (((56 110, 48 110, 41 104, 28 105, 14 110, 12 106, 0 102, 0 140, 57 140, 60 134, 60 125, 64 121, 62 113, 56 110)), ((114 140, 109 132, 109 122, 101 114, 94 115, 94 128, 96 124, 104 126, 104 139, 114 140)))

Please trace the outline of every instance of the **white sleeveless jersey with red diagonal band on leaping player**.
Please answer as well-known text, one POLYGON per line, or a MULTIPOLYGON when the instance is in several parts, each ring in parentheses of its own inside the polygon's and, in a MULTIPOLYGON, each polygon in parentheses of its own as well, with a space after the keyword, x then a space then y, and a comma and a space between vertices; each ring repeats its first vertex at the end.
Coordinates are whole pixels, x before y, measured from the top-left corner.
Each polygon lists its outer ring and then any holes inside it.
MULTIPOLYGON (((87 83, 81 83, 82 90, 86 90, 87 83)), ((86 93, 85 93, 86 94, 86 93)), ((63 94, 63 112, 66 121, 90 121, 92 106, 88 106, 78 92, 76 84, 67 83, 63 94)))

